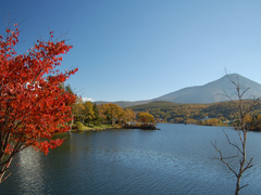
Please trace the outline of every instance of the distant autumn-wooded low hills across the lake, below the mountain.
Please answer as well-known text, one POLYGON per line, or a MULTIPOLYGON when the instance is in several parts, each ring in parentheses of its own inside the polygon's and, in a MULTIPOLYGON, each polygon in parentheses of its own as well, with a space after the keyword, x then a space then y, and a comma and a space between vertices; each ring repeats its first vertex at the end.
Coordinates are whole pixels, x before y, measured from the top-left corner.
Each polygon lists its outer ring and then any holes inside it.
MULTIPOLYGON (((244 101, 247 107, 252 101, 244 101)), ((212 104, 177 104, 172 102, 152 102, 144 105, 136 105, 132 108, 135 112, 146 112, 156 118, 158 122, 173 123, 198 123, 222 126, 232 123, 237 120, 236 105, 232 102, 220 102, 212 104)), ((258 116, 261 113, 261 105, 258 104, 252 116, 258 116)), ((250 120, 250 119, 249 119, 250 120)))

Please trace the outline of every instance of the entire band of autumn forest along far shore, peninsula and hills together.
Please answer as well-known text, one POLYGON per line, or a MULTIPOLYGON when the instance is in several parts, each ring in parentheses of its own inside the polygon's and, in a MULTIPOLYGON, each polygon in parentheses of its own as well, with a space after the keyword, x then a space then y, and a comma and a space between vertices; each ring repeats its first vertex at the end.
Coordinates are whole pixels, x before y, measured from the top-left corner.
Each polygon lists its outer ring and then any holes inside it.
MULTIPOLYGON (((252 101, 243 102, 251 105, 252 101)), ((158 101, 145 105, 123 108, 113 103, 96 104, 84 102, 80 98, 72 106, 74 121, 72 131, 100 131, 107 129, 158 130, 157 123, 185 123, 198 126, 234 127, 238 130, 234 104, 231 102, 213 104, 176 104, 158 101), (141 126, 145 125, 146 126, 141 126), (153 126, 148 126, 152 123, 153 126)), ((261 131, 261 104, 252 115, 244 119, 249 131, 261 131)), ((239 128, 240 129, 240 128, 239 128)))

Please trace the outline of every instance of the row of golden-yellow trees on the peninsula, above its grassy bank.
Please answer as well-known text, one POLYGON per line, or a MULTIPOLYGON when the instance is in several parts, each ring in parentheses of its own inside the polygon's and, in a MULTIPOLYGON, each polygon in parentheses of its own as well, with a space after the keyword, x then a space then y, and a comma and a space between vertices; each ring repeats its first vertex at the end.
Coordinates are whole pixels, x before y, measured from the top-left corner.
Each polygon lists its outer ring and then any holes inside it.
POLYGON ((99 104, 89 101, 84 102, 77 98, 77 102, 72 107, 74 121, 87 125, 126 125, 129 121, 156 122, 154 117, 147 112, 134 112, 132 108, 123 109, 121 106, 107 103, 99 104))

